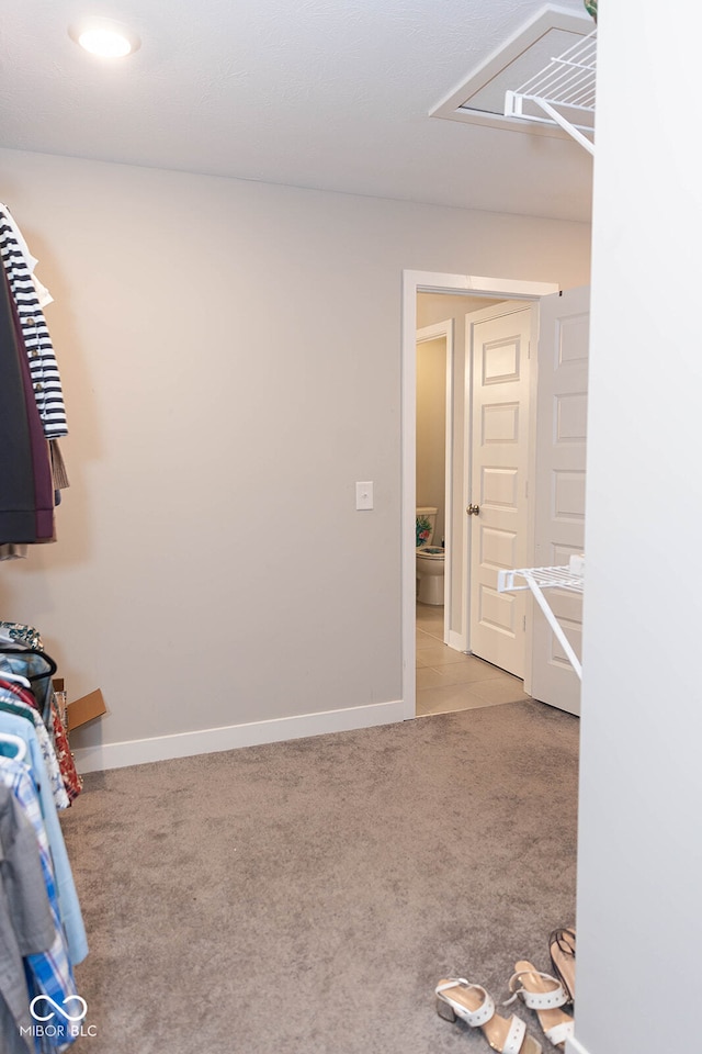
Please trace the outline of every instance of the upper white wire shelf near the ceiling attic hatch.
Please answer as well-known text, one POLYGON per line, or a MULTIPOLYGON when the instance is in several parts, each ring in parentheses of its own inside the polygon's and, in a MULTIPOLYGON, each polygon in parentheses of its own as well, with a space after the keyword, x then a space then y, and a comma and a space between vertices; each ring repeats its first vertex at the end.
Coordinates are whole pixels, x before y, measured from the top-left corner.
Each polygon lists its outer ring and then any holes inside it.
POLYGON ((552 58, 521 88, 507 91, 505 116, 557 124, 595 154, 596 70, 597 30, 593 30, 552 58))

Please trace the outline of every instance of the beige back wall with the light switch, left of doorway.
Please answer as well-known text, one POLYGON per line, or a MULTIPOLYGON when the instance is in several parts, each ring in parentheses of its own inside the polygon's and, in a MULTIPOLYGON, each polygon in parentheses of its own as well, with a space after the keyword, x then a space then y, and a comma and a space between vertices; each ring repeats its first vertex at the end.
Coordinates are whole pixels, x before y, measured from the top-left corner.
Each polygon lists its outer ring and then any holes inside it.
POLYGON ((588 226, 13 152, 0 200, 71 429, 59 541, 0 610, 103 689, 75 745, 399 699, 401 271, 581 284, 588 226))

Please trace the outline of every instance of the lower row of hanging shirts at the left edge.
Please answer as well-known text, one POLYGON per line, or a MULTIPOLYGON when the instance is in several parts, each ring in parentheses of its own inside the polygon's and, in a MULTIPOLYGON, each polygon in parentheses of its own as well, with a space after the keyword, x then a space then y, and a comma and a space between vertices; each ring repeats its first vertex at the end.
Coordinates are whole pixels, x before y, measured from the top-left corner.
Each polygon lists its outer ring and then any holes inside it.
MULTIPOLYGON (((32 1019, 52 1003, 70 1006, 84 1001, 76 990, 73 967, 88 954, 88 941, 73 882, 58 810, 68 808, 81 788, 72 776, 71 794, 64 778, 59 753, 68 749, 56 703, 53 676, 56 663, 44 651, 42 638, 32 626, 0 621, 0 1050, 2 1054, 64 1054, 80 1034, 78 1018, 56 1016, 50 1028, 32 1019), (58 733, 58 735, 57 735, 58 733), (14 807, 8 806, 8 792, 14 807), (18 807, 20 812, 18 814, 18 807), (8 905, 3 915, 3 883, 8 876, 2 840, 3 809, 12 823, 29 823, 34 845, 34 873, 27 865, 21 881, 29 922, 8 905), (23 821, 18 819, 18 815, 23 821), (37 876, 36 862, 39 864, 37 876), (42 913, 33 909, 38 898, 42 913), (48 908, 48 920, 46 908, 48 908), (15 920, 16 915, 16 920, 15 920), (16 929, 7 930, 7 917, 16 929), (30 940, 26 933, 38 933, 30 940), (22 937, 22 934, 25 934, 22 937), (14 943, 13 943, 14 941, 14 943)), ((70 786, 70 784, 68 784, 70 786)), ((9 821, 7 821, 9 822, 9 821)), ((29 852, 29 850, 27 850, 29 852)), ((7 853, 5 853, 7 855, 7 853)), ((18 879, 20 881, 20 879, 18 879)), ((15 899, 20 894, 15 890, 15 899)), ((18 901, 19 902, 19 901, 18 901)), ((45 1019, 45 1020, 48 1020, 45 1019)))

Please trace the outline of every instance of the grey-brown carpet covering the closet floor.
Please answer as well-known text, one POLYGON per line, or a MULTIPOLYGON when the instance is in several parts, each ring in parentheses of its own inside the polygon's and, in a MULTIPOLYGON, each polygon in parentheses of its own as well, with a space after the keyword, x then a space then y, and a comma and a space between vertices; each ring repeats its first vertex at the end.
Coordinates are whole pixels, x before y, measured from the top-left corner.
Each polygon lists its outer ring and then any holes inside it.
POLYGON ((73 1050, 487 1052, 433 986, 502 999, 517 958, 550 968, 577 759, 577 718, 528 700, 87 776, 73 1050))

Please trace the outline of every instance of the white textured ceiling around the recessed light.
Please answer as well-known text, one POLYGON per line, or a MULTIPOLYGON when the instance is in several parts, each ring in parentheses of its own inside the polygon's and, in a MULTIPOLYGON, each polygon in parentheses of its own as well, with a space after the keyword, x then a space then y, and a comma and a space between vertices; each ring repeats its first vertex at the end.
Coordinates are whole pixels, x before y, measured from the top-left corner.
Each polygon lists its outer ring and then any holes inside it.
MULTIPOLYGON (((0 146, 589 221, 592 159, 568 137, 429 115, 543 7, 533 0, 3 4, 0 146), (111 63, 83 53, 68 27, 84 14, 127 23, 141 47, 111 63)), ((581 0, 558 7, 587 19, 581 0)))

